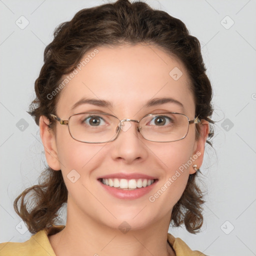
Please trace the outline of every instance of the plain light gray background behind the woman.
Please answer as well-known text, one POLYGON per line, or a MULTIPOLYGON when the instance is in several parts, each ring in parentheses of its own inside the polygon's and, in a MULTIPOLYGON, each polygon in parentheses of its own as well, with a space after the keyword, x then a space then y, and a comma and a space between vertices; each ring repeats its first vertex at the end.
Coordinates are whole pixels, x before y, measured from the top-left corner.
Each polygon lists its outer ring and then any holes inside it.
MULTIPOLYGON (((105 2, 0 0, 0 242, 31 236, 12 204, 24 188, 36 184, 44 168, 38 126, 26 113, 43 50, 59 23, 81 8, 105 2), (15 23, 21 23, 22 15, 29 21, 24 29, 15 23), (23 130, 21 118, 28 124, 23 130)), ((208 190, 202 231, 193 235, 185 228, 170 228, 169 232, 205 254, 256 255, 256 1, 146 2, 181 19, 199 39, 214 90, 213 119, 218 121, 216 152, 206 146, 201 168, 208 190)))

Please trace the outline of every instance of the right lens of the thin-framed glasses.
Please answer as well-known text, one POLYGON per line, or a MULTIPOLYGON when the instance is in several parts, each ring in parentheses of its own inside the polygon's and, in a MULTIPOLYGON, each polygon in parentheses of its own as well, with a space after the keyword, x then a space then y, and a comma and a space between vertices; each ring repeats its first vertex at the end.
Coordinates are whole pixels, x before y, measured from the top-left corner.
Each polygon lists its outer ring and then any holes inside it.
POLYGON ((156 142, 184 138, 188 131, 188 117, 179 113, 160 113, 143 117, 139 122, 141 135, 156 142))

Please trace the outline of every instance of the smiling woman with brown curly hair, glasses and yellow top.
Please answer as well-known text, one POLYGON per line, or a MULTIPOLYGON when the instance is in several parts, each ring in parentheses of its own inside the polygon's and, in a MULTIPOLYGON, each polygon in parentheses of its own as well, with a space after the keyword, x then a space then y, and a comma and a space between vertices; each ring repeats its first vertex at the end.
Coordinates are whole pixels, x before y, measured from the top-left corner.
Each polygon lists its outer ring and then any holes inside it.
POLYGON ((167 233, 202 225, 195 177, 213 123, 200 44, 183 22, 128 0, 82 9, 55 30, 35 92, 49 167, 14 201, 34 235, 0 255, 203 255, 167 233))

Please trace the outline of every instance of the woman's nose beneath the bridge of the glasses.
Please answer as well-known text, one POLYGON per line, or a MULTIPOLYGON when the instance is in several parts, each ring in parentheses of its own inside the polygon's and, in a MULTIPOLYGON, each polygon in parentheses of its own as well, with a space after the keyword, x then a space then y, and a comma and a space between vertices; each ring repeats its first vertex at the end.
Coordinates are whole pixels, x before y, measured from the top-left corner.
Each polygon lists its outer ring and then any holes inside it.
POLYGON ((147 147, 139 133, 138 121, 123 119, 120 123, 117 138, 112 141, 111 156, 113 159, 132 163, 134 160, 143 160, 147 156, 147 147))

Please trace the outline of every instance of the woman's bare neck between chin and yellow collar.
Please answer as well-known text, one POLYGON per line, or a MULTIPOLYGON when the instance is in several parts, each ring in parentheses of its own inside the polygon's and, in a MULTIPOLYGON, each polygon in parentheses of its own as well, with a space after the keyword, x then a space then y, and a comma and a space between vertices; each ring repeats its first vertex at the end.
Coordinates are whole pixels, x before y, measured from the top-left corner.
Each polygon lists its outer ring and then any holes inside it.
POLYGON ((56 256, 175 255, 167 243, 170 215, 141 229, 111 228, 74 208, 67 203, 65 228, 49 236, 56 256))

